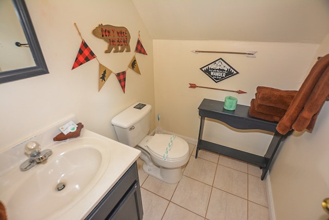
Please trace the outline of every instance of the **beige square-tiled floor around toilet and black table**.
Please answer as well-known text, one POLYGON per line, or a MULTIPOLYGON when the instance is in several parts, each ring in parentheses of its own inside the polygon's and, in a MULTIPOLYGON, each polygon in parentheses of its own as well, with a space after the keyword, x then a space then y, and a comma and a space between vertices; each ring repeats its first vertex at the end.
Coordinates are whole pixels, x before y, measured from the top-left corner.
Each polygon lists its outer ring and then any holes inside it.
POLYGON ((146 173, 137 160, 143 220, 269 219, 265 181, 258 167, 189 144, 190 160, 177 184, 146 173))

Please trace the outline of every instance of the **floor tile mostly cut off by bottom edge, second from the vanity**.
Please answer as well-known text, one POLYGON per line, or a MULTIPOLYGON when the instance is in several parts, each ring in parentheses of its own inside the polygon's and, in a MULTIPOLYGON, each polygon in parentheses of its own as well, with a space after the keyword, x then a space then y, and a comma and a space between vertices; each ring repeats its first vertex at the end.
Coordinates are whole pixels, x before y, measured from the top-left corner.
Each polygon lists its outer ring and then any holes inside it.
POLYGON ((204 217, 177 206, 176 204, 170 203, 162 220, 173 219, 204 220, 204 217))

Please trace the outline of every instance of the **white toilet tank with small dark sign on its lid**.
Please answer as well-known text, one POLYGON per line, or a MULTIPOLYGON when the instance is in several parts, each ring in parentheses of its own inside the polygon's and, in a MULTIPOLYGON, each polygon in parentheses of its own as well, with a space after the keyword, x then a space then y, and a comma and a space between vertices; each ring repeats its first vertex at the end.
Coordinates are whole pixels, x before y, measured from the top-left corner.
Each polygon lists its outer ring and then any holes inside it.
POLYGON ((136 146, 148 135, 151 126, 151 109, 151 105, 137 102, 111 120, 119 142, 136 146))

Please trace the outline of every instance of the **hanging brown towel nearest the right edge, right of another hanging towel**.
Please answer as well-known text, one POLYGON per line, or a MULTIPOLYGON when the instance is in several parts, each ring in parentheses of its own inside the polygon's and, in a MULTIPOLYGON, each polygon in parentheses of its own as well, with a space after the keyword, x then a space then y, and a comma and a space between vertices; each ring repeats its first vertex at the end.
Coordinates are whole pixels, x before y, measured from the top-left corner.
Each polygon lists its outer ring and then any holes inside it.
POLYGON ((309 95, 304 108, 298 115, 296 121, 293 124, 293 129, 295 131, 301 132, 304 129, 309 131, 313 130, 315 120, 313 125, 310 124, 311 120, 317 117, 323 103, 329 95, 329 67, 326 68, 322 76, 320 77, 317 84, 314 86, 312 93, 309 95))

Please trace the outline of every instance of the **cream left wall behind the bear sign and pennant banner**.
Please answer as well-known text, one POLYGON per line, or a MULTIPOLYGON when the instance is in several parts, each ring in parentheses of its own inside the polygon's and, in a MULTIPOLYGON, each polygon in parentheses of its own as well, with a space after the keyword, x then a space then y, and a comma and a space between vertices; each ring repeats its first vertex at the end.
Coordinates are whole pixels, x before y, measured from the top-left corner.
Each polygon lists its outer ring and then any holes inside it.
POLYGON ((26 4, 50 74, 0 84, 0 151, 70 114, 76 114, 86 129, 116 139, 111 125, 116 114, 138 101, 154 106, 152 39, 131 1, 26 0, 26 4), (98 60, 115 73, 127 69, 140 30, 149 55, 136 54, 141 75, 127 70, 125 94, 114 74, 98 92, 96 59, 71 70, 81 44, 74 23, 98 60), (126 27, 132 51, 104 53, 107 44, 92 34, 101 23, 126 27))

